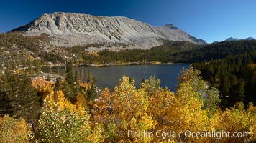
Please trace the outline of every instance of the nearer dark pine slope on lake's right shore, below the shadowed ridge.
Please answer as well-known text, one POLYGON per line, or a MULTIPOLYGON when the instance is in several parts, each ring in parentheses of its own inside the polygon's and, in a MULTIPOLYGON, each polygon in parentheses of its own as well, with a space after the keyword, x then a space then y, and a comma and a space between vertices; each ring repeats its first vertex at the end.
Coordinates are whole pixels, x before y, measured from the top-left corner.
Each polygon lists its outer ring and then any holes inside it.
POLYGON ((227 56, 225 59, 196 62, 196 69, 201 70, 208 80, 221 92, 222 107, 231 107, 236 102, 256 102, 256 64, 255 53, 227 56), (254 59, 254 60, 252 60, 254 59))

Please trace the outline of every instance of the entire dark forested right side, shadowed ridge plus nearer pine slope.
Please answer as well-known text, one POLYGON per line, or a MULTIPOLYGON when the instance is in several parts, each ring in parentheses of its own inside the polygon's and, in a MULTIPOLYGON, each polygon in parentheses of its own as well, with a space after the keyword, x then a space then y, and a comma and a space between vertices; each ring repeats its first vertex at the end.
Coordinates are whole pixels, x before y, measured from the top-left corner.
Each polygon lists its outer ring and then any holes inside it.
POLYGON ((204 79, 217 87, 221 94, 221 107, 243 102, 255 104, 256 41, 225 41, 210 44, 190 52, 174 54, 178 62, 194 63, 204 79))

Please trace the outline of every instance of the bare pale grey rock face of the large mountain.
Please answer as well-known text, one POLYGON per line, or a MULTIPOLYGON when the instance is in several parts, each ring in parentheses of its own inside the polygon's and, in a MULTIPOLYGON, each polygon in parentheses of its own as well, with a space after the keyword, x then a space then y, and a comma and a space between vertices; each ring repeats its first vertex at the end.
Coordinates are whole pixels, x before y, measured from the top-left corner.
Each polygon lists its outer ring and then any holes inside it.
POLYGON ((50 34, 55 46, 121 43, 128 48, 149 49, 152 46, 159 46, 160 39, 206 44, 204 40, 196 39, 172 24, 155 27, 122 16, 56 12, 43 14, 29 24, 12 31, 25 31, 24 35, 27 36, 50 34))

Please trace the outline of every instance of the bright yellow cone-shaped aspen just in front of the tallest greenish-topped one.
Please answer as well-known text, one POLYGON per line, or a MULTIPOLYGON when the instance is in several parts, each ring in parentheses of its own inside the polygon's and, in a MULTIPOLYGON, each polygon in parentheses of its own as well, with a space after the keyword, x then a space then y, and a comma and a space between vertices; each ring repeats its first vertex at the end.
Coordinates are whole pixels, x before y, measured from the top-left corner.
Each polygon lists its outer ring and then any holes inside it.
MULTIPOLYGON (((207 112, 201 109, 203 105, 203 100, 190 82, 181 83, 170 112, 170 118, 173 122, 170 128, 181 134, 180 137, 183 137, 183 133, 187 130, 191 132, 209 130, 207 112)), ((198 139, 190 138, 188 140, 200 142, 198 139)))

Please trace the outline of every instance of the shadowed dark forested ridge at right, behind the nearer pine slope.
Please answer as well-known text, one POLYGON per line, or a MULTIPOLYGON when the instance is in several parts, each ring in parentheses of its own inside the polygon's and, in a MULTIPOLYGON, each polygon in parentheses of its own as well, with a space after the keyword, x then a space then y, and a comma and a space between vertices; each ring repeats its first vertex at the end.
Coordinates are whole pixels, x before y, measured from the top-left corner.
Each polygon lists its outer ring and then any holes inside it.
MULTIPOLYGON (((209 62, 211 59, 224 59, 227 56, 240 54, 256 54, 256 40, 221 41, 215 44, 206 44, 198 49, 171 54, 173 62, 209 62)), ((256 60, 256 56, 254 56, 256 60)))

